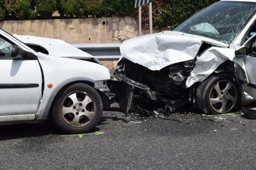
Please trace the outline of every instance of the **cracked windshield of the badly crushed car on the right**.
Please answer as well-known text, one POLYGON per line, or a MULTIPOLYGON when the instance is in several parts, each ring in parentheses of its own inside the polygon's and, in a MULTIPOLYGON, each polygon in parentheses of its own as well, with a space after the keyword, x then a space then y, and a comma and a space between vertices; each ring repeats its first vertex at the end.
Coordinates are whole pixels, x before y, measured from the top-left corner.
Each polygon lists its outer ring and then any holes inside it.
POLYGON ((174 31, 231 44, 252 15, 255 2, 220 1, 190 17, 174 31))

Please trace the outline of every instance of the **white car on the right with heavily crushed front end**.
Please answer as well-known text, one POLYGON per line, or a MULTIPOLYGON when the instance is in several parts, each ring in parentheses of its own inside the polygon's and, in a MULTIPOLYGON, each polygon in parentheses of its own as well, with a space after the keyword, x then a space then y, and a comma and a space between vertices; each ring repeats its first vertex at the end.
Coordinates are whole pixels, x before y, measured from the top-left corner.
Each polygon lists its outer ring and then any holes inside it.
POLYGON ((115 76, 127 98, 165 102, 166 112, 194 103, 227 113, 256 100, 255 33, 256 1, 219 1, 174 31, 125 41, 115 76))

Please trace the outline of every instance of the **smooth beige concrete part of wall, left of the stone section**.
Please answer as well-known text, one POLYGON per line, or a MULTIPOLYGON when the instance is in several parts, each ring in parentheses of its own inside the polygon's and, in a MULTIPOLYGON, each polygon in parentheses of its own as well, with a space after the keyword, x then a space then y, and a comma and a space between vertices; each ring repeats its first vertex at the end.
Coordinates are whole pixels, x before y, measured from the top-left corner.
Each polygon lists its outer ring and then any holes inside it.
POLYGON ((44 36, 69 43, 113 42, 112 18, 4 21, 0 28, 11 34, 44 36))

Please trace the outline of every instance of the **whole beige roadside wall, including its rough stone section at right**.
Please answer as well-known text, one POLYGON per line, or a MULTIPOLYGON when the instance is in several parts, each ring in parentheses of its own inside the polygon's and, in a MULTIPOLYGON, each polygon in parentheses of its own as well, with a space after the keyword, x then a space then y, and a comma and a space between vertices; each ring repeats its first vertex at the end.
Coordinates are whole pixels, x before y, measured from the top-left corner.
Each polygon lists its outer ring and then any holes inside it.
POLYGON ((0 28, 11 34, 63 39, 70 44, 122 42, 138 36, 138 25, 132 17, 11 20, 1 22, 0 28))

